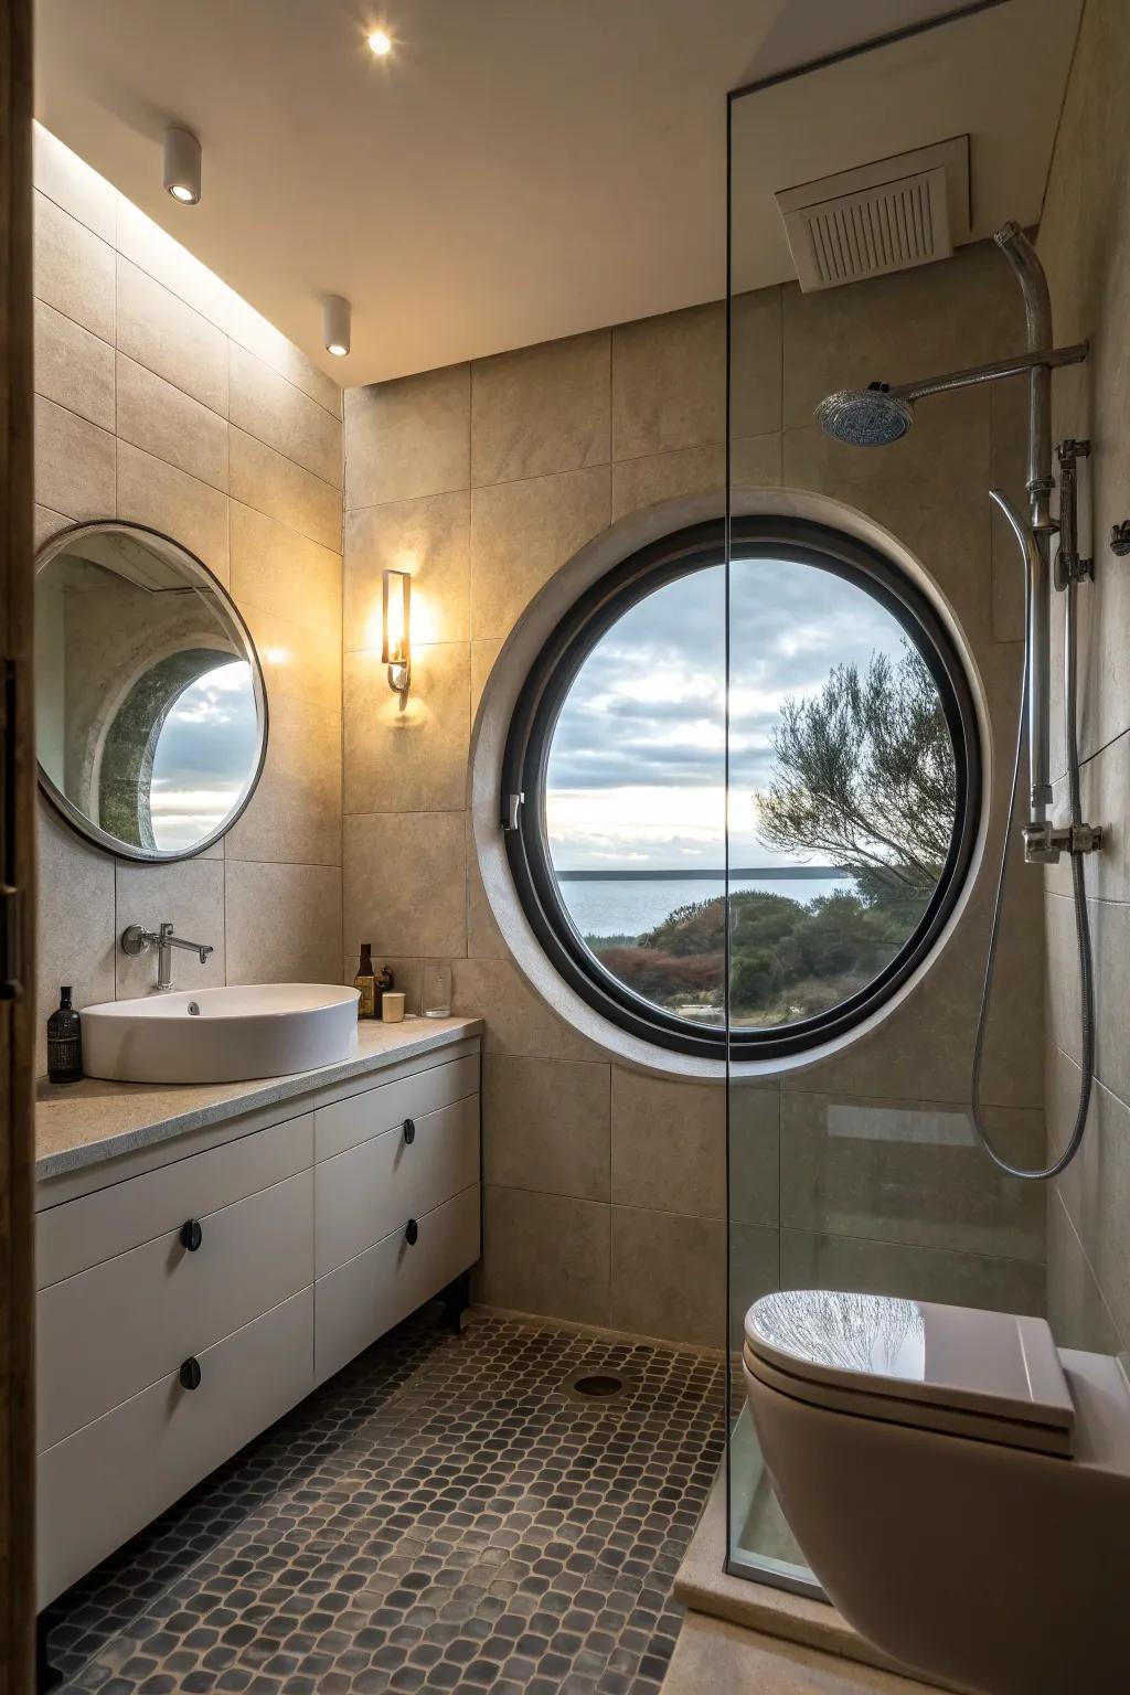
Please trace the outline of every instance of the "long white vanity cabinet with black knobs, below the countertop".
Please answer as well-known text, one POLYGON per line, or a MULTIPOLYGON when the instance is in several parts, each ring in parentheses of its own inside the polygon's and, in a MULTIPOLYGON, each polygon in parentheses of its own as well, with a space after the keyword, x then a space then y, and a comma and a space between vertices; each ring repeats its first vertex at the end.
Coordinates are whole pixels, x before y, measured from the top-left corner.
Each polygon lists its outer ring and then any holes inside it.
POLYGON ((478 1259, 478 1037, 53 1176, 39 1209, 42 1607, 478 1259))

